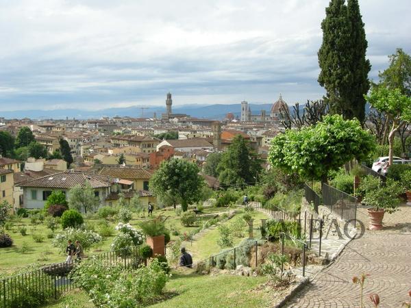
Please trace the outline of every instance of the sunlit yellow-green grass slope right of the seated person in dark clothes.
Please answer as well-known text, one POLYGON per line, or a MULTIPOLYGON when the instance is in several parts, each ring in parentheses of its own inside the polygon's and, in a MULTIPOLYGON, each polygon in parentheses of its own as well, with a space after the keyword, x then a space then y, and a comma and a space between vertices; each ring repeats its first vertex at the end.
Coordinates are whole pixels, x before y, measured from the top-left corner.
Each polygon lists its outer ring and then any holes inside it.
MULTIPOLYGON (((261 222, 260 219, 262 218, 268 218, 266 214, 260 212, 260 211, 253 211, 251 216, 253 216, 254 221, 253 221, 253 235, 254 238, 259 239, 261 238, 261 232, 260 230, 256 230, 256 228, 260 227, 261 222)), ((232 218, 232 219, 235 219, 232 218)), ((229 224, 230 220, 227 222, 224 222, 225 224, 229 224)), ((240 244, 242 240, 245 238, 248 238, 248 227, 244 228, 245 230, 245 237, 243 238, 234 238, 234 246, 240 244)), ((203 259, 207 259, 211 255, 215 255, 216 253, 219 253, 220 251, 223 250, 217 244, 217 240, 219 240, 219 229, 214 228, 211 230, 208 230, 203 233, 197 240, 193 241, 192 244, 191 242, 184 242, 184 245, 187 248, 187 251, 192 255, 194 261, 199 261, 203 259)))

